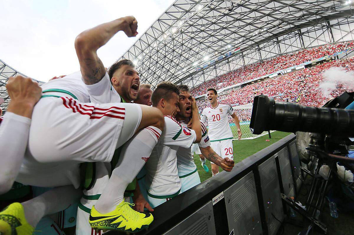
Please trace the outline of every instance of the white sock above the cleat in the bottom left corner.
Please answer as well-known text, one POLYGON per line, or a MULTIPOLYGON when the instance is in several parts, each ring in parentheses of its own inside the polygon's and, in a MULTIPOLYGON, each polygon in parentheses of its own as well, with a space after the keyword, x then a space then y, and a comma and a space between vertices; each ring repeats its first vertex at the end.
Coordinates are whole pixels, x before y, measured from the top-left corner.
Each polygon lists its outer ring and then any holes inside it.
POLYGON ((71 204, 80 200, 81 189, 74 186, 53 188, 35 198, 22 202, 27 222, 35 228, 43 216, 65 210, 71 204))

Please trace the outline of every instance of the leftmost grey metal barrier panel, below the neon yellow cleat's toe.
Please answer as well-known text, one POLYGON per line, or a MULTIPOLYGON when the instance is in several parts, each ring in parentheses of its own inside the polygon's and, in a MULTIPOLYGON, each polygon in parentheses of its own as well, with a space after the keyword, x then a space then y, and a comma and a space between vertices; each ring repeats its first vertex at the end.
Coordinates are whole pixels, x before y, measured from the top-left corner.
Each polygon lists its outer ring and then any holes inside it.
POLYGON ((213 203, 209 201, 192 215, 185 218, 165 235, 207 235, 216 234, 213 214, 213 203))

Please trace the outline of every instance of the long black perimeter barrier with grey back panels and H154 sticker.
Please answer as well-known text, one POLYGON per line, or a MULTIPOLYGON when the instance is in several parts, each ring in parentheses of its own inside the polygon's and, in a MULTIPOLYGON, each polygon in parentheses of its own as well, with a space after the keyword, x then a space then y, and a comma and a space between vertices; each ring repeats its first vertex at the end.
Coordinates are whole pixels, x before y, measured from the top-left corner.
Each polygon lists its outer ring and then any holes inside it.
MULTIPOLYGON (((297 195, 301 172, 290 134, 161 204, 139 234, 276 234, 285 218, 280 194, 297 195)), ((121 234, 113 231, 107 234, 121 234)))

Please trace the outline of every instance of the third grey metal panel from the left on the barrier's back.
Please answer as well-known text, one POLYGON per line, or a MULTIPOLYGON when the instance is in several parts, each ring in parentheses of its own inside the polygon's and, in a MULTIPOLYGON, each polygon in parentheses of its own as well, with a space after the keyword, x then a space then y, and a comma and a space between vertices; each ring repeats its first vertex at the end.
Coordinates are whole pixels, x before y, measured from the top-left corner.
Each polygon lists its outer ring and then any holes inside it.
POLYGON ((280 222, 284 219, 283 205, 280 198, 280 186, 274 156, 258 166, 265 210, 268 234, 276 234, 280 222), (278 220, 279 221, 278 221, 278 220))

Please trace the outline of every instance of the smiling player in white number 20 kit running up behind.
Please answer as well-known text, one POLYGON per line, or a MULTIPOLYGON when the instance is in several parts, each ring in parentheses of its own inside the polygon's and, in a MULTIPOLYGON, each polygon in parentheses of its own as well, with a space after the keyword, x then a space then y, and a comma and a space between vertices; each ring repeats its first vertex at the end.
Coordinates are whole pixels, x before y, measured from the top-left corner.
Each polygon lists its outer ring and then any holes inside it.
MULTIPOLYGON (((236 125, 239 140, 242 135, 240 121, 231 105, 217 101, 218 93, 214 88, 209 88, 206 96, 210 102, 210 106, 204 108, 201 113, 201 120, 203 122, 206 119, 208 120, 211 147, 222 158, 229 157, 230 159, 234 159, 233 134, 230 129, 228 114, 232 117, 236 125)), ((213 164, 213 162, 211 163, 211 173, 212 176, 215 176, 219 173, 219 166, 213 164)))

